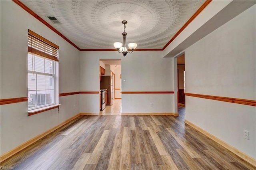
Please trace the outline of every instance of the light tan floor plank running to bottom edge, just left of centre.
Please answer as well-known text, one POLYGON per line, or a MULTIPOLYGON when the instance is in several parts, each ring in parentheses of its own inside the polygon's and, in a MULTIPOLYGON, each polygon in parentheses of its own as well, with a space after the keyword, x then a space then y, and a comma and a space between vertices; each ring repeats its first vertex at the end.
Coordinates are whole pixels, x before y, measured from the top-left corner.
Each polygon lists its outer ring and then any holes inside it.
POLYGON ((122 133, 116 133, 116 138, 114 142, 114 146, 112 149, 112 153, 110 156, 108 170, 118 170, 120 166, 120 157, 121 157, 121 149, 122 149, 122 133))

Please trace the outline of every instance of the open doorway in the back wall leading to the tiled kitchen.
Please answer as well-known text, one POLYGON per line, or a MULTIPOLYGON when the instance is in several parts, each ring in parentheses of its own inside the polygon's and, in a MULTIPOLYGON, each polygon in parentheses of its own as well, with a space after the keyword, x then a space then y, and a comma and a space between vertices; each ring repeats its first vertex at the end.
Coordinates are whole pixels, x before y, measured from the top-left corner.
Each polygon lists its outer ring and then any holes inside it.
MULTIPOLYGON (((109 90, 105 109, 100 111, 100 115, 121 115, 122 114, 122 97, 121 97, 121 59, 100 59, 100 67, 105 69, 105 74, 110 77, 109 90)), ((100 81, 100 85, 103 84, 100 81)), ((103 86, 100 86, 100 89, 103 86)))

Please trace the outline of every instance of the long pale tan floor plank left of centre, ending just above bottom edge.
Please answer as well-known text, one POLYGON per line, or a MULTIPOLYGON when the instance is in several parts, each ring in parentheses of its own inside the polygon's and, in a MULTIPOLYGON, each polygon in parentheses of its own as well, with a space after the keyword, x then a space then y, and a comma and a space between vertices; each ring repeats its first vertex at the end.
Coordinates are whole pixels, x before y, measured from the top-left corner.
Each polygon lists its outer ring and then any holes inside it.
POLYGON ((106 144, 106 140, 108 138, 108 135, 110 133, 110 130, 104 130, 102 136, 100 137, 100 140, 98 142, 98 144, 96 145, 94 151, 92 152, 92 155, 90 156, 87 164, 97 164, 99 159, 100 159, 100 155, 102 153, 102 150, 106 144))

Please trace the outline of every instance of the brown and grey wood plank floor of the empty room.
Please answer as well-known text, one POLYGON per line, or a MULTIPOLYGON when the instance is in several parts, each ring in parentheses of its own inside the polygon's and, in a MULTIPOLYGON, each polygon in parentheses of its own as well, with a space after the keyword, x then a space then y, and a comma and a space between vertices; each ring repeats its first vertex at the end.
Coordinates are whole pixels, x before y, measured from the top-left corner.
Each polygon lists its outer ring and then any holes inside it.
MULTIPOLYGON (((183 108, 183 109, 182 109, 183 108)), ((173 116, 80 116, 1 166, 25 170, 255 170, 173 116)))

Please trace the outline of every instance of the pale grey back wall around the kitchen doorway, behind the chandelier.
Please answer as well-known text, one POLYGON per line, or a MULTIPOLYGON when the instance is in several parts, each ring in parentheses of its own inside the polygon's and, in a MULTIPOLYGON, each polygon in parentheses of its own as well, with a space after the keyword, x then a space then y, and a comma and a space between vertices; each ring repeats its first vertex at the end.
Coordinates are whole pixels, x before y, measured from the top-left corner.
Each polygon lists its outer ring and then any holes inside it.
MULTIPOLYGON (((174 91, 173 59, 162 51, 80 51, 80 89, 99 91, 99 59, 122 60, 122 91, 174 91)), ((119 75, 118 75, 119 76, 119 75)), ((80 95, 81 113, 99 113, 99 95, 80 95), (90 100, 95 105, 84 107, 90 100)), ((122 94, 122 113, 174 113, 174 94, 122 94), (150 103, 153 107, 150 107, 150 103)))

